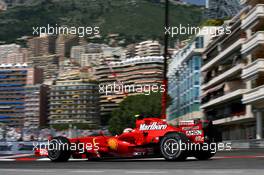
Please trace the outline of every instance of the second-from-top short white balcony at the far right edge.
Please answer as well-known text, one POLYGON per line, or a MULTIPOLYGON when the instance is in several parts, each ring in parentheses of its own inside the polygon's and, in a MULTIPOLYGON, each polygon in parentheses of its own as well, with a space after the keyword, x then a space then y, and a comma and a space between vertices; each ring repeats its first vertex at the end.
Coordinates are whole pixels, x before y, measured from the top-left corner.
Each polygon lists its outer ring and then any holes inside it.
POLYGON ((259 45, 264 44, 264 31, 258 31, 250 39, 248 39, 242 46, 241 53, 245 54, 255 49, 259 45))

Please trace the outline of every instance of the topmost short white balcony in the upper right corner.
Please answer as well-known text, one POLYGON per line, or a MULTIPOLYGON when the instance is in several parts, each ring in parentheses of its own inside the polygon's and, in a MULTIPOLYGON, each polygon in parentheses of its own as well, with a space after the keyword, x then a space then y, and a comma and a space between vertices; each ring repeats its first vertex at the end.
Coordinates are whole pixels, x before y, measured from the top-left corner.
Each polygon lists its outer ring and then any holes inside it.
POLYGON ((256 7, 251 9, 246 17, 242 20, 241 27, 245 29, 250 24, 254 23, 260 17, 264 17, 264 4, 258 4, 256 7))

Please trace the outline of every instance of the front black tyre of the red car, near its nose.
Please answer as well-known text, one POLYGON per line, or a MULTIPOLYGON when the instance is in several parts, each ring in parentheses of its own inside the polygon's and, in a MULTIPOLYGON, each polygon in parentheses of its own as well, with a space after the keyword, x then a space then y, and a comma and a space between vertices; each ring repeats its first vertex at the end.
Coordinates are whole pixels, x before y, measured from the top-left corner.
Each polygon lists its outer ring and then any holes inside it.
POLYGON ((49 142, 48 157, 52 162, 66 162, 71 157, 70 142, 65 137, 55 137, 49 142))

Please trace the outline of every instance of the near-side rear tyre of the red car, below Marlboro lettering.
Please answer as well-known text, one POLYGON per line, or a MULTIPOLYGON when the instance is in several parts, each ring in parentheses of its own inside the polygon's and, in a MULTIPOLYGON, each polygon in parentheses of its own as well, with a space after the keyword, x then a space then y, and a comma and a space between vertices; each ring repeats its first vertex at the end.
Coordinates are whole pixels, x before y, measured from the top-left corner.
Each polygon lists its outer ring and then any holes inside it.
POLYGON ((182 133, 169 133, 160 142, 160 152, 168 161, 184 161, 188 150, 180 149, 181 144, 188 144, 188 138, 182 133))

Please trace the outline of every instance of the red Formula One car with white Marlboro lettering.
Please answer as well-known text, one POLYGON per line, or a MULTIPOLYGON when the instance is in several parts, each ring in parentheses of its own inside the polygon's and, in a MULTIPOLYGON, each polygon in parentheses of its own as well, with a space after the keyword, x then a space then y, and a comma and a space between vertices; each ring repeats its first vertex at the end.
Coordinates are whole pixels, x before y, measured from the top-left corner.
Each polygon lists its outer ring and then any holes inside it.
POLYGON ((117 136, 56 137, 46 148, 36 149, 35 154, 48 156, 55 162, 67 161, 70 157, 88 160, 163 157, 182 161, 194 156, 206 160, 215 154, 212 149, 216 144, 209 145, 220 141, 218 135, 208 121, 183 121, 174 127, 158 118, 145 118, 136 121, 135 129, 125 129, 117 136))

